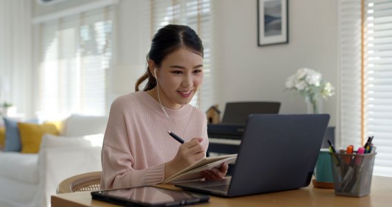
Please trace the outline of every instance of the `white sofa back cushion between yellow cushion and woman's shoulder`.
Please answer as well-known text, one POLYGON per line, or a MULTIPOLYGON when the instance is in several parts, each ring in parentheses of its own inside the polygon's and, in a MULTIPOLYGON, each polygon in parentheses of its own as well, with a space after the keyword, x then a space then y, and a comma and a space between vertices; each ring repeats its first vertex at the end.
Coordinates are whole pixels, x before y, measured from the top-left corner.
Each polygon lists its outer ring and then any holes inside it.
POLYGON ((108 118, 104 116, 71 115, 65 120, 60 135, 77 137, 104 134, 108 118))

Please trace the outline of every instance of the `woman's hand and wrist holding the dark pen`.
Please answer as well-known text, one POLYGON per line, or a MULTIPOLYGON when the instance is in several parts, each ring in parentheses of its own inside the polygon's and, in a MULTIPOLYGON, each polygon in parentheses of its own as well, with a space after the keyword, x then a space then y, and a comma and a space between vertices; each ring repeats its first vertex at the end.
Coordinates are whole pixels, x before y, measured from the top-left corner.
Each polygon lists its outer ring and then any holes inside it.
POLYGON ((203 138, 194 138, 191 141, 181 144, 178 148, 177 155, 171 161, 165 164, 165 178, 174 175, 176 172, 191 166, 196 161, 205 157, 205 150, 200 142, 203 138))

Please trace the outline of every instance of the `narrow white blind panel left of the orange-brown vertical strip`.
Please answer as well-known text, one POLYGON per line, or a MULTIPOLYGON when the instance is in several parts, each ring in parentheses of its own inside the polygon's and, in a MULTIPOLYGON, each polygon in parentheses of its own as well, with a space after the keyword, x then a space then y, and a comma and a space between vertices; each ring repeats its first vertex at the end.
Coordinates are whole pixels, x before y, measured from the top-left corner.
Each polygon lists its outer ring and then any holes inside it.
POLYGON ((361 145, 361 0, 339 1, 340 146, 361 145))

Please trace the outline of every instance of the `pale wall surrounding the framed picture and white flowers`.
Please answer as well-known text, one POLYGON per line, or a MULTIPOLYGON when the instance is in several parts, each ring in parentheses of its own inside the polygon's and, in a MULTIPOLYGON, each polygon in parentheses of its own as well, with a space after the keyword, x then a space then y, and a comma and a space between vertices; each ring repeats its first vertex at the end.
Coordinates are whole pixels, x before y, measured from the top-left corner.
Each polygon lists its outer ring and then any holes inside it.
MULTIPOLYGON (((281 101, 281 113, 306 113, 304 99, 284 91, 298 68, 319 70, 337 86, 337 0, 289 1, 289 43, 257 46, 256 0, 214 1, 217 103, 281 101)), ((330 126, 337 121, 337 99, 323 103, 330 126)))

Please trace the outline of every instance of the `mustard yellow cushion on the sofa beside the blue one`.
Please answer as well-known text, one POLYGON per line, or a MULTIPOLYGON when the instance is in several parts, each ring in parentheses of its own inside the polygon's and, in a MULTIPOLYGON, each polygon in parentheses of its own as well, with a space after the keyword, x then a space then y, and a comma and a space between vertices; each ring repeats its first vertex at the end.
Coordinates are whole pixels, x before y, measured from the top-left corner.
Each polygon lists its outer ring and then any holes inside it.
POLYGON ((30 124, 18 123, 21 136, 21 152, 37 153, 41 144, 42 135, 49 133, 58 135, 59 132, 54 124, 30 124))

